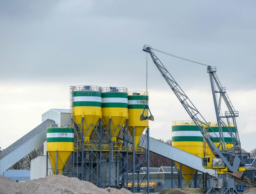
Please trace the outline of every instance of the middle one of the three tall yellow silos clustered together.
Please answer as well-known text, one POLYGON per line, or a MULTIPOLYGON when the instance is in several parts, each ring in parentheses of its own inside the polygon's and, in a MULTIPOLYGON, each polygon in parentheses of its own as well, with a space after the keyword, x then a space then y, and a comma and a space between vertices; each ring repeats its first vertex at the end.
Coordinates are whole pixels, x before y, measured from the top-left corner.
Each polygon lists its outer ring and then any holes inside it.
POLYGON ((111 141, 116 142, 120 127, 123 127, 128 117, 127 88, 102 88, 101 111, 102 120, 110 131, 111 141))

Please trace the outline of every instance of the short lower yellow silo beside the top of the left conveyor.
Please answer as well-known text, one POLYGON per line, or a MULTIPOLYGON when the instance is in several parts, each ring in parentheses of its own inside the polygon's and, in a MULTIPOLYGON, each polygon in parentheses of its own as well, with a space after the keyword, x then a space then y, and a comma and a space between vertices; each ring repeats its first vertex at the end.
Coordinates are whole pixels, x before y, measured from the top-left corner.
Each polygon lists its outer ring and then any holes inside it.
POLYGON ((71 127, 71 124, 47 124, 46 151, 50 156, 53 174, 62 173, 64 165, 74 152, 74 129, 71 127))

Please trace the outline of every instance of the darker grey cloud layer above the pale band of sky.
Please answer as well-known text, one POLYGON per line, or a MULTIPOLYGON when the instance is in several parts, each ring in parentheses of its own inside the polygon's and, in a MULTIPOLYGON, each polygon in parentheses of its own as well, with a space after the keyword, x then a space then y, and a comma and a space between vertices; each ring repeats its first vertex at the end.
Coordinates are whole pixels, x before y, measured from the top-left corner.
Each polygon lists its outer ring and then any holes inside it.
MULTIPOLYGON (((254 1, 73 2, 1 1, 0 82, 144 87, 148 44, 217 66, 230 89, 255 85, 254 1)), ((205 67, 156 54, 184 87, 210 84, 205 67)), ((150 86, 165 88, 149 58, 148 66, 150 86)))

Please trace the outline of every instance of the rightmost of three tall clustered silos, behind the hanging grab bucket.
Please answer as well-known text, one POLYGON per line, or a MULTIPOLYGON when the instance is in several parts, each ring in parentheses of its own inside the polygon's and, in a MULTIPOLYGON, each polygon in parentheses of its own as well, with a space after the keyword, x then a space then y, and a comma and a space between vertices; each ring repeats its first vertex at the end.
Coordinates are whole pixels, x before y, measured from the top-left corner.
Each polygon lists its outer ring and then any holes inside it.
MULTIPOLYGON (((148 127, 148 119, 140 121, 140 115, 142 114, 145 106, 148 105, 148 92, 129 92, 128 95, 128 114, 129 122, 128 129, 130 134, 133 134, 133 127, 135 130, 134 133, 134 145, 135 149, 138 150, 138 144, 140 135, 143 133, 146 127, 148 127)), ((148 109, 145 109, 145 116, 148 116, 148 109)))

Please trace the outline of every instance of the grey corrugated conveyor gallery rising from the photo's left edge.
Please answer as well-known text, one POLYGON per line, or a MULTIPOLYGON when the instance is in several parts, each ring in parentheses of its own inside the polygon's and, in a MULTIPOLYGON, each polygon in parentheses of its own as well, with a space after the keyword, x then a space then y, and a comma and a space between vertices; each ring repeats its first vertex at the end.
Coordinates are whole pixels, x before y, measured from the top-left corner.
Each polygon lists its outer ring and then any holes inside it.
POLYGON ((0 174, 46 140, 46 125, 50 123, 54 121, 47 119, 0 153, 0 174))

